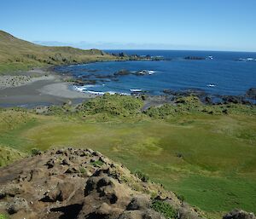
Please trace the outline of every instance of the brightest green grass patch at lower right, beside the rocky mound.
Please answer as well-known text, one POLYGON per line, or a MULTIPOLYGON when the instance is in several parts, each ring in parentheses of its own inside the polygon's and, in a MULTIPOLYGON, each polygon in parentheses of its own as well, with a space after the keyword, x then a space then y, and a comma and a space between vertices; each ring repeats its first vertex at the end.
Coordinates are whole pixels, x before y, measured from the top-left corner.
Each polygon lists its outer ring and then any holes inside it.
MULTIPOLYGON (((237 176, 190 175, 168 186, 190 204, 206 211, 255 210, 256 179, 237 176)), ((255 211, 254 211, 255 212, 255 211)))

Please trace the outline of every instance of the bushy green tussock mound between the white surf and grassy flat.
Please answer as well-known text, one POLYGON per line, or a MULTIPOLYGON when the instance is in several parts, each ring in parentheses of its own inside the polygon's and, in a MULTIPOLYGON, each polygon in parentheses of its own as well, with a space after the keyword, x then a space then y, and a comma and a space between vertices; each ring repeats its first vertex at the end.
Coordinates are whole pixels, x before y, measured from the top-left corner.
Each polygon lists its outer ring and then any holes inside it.
MULTIPOLYGON (((64 104, 52 106, 44 114, 61 116, 63 119, 79 118, 90 121, 119 120, 120 118, 143 118, 141 112, 143 101, 128 95, 97 96, 90 101, 85 101, 76 107, 64 104)), ((119 120, 121 122, 121 120, 119 120)))

